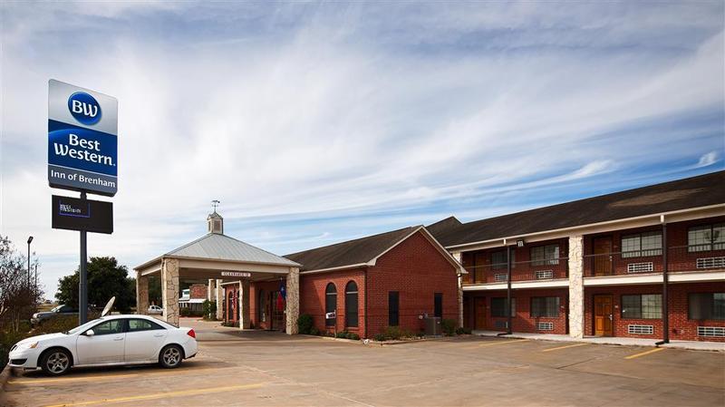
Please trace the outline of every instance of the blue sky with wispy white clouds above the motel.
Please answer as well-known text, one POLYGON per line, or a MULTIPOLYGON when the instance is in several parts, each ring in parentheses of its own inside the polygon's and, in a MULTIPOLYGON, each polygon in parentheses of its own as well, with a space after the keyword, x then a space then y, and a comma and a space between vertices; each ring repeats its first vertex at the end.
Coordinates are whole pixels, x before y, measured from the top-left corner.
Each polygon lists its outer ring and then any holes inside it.
POLYGON ((48 80, 119 100, 138 266, 225 233, 279 255, 725 169, 725 11, 700 2, 0 4, 0 235, 52 297, 48 80))

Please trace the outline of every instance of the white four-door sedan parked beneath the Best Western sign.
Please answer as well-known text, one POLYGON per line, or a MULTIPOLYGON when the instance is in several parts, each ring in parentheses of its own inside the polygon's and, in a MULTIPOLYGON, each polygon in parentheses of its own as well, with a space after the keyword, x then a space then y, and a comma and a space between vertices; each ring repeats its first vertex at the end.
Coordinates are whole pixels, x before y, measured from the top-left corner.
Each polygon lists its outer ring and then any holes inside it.
POLYGON ((9 365, 60 375, 71 366, 160 363, 178 367, 197 354, 196 333, 146 315, 108 315, 70 331, 15 344, 9 365))

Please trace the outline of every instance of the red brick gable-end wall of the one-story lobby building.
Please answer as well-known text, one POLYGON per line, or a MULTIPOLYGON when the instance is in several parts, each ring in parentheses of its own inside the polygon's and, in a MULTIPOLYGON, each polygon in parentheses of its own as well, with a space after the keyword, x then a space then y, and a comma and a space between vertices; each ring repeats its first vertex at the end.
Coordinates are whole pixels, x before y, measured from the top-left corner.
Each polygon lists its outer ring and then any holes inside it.
POLYGON ((433 315, 434 293, 443 294, 443 318, 458 320, 455 266, 419 232, 378 259, 368 269, 368 336, 388 326, 388 292, 400 292, 400 326, 424 328, 419 315, 433 315))

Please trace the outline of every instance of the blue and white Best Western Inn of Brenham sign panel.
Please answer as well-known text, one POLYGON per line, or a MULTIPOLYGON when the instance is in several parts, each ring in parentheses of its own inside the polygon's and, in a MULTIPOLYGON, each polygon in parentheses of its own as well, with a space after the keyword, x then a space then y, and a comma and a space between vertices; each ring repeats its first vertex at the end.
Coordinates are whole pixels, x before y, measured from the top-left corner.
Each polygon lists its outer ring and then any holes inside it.
POLYGON ((114 196, 118 189, 118 100, 48 82, 48 183, 114 196))

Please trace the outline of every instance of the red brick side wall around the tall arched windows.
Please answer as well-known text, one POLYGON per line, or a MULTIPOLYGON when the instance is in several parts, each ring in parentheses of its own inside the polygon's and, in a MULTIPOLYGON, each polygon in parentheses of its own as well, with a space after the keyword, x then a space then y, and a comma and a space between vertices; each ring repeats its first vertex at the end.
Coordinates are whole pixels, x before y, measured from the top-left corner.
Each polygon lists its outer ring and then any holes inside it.
POLYGON ((300 314, 312 315, 314 326, 320 332, 333 332, 334 326, 325 326, 324 298, 328 283, 337 290, 337 331, 347 329, 363 336, 365 332, 365 279, 364 269, 333 271, 330 273, 300 275, 300 314), (357 284, 358 326, 345 326, 345 286, 350 281, 357 284))

